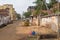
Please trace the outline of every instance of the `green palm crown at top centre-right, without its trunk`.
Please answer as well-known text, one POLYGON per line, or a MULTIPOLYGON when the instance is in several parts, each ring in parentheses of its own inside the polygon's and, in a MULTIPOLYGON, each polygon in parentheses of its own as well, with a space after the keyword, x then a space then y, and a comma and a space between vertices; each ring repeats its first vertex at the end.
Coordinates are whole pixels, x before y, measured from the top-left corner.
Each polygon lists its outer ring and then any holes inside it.
POLYGON ((46 5, 45 5, 45 0, 36 0, 34 2, 36 4, 36 15, 41 14, 41 10, 47 10, 46 5))

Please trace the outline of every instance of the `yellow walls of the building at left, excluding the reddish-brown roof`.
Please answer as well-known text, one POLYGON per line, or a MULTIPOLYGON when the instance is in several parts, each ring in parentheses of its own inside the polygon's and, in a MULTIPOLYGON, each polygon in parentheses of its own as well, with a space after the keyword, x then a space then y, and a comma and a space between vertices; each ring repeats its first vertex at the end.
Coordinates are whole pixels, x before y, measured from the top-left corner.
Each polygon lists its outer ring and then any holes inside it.
POLYGON ((11 20, 15 20, 14 16, 15 16, 15 10, 13 8, 12 4, 4 4, 3 6, 0 6, 0 9, 6 9, 9 8, 9 16, 11 17, 11 20))

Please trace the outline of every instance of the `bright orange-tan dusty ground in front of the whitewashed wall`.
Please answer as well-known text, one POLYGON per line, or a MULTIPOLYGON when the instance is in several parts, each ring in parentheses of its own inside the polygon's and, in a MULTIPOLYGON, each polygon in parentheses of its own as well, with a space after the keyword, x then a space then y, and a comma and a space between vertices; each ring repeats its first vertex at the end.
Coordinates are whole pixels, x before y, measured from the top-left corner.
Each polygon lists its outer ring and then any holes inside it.
POLYGON ((51 34, 55 33, 52 29, 39 26, 29 26, 29 27, 16 27, 17 34, 29 34, 35 31, 38 34, 51 34))

